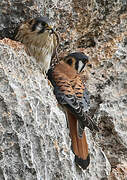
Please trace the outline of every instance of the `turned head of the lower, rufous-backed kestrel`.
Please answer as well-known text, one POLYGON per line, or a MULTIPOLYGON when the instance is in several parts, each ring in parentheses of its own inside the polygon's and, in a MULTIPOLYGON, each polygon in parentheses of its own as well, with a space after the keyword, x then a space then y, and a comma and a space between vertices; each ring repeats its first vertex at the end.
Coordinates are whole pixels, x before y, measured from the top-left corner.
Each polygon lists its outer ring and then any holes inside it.
POLYGON ((64 62, 80 73, 88 62, 88 56, 86 56, 83 52, 74 52, 64 57, 64 62))

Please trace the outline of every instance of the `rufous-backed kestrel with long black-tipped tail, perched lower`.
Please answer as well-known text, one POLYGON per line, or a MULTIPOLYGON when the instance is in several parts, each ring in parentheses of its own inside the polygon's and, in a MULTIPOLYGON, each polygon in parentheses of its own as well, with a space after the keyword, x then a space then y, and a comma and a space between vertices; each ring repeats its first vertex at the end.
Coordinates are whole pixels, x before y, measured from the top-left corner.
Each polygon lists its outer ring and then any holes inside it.
POLYGON ((86 169, 90 163, 85 127, 98 131, 87 112, 89 95, 80 75, 87 62, 88 57, 84 53, 75 52, 48 71, 56 99, 66 112, 75 162, 82 169, 86 169))

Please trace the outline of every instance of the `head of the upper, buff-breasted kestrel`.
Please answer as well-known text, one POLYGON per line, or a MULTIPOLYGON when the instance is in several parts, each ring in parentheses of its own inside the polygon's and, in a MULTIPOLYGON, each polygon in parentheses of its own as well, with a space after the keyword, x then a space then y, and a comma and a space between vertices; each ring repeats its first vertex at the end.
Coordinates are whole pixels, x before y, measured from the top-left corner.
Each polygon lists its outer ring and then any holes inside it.
POLYGON ((54 30, 52 27, 52 22, 48 17, 37 17, 28 22, 31 32, 36 32, 37 34, 42 34, 48 32, 53 34, 54 30))

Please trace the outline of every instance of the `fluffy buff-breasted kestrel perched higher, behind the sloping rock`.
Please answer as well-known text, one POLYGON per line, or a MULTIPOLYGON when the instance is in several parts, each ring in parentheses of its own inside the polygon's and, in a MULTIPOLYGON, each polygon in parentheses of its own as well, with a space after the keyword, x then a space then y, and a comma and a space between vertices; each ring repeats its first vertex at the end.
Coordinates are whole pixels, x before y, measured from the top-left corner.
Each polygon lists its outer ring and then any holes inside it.
POLYGON ((27 52, 40 62, 44 74, 55 56, 59 40, 51 25, 48 17, 30 19, 19 26, 15 38, 25 44, 27 52))

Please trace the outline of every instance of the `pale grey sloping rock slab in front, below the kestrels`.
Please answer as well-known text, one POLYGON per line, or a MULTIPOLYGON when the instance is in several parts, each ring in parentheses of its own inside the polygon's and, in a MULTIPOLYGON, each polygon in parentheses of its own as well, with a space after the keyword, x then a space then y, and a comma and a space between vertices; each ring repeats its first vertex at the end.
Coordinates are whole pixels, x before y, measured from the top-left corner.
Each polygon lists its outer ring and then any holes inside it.
POLYGON ((75 166, 65 115, 35 59, 9 39, 0 57, 0 179, 106 178, 110 164, 89 130, 90 166, 75 166))

